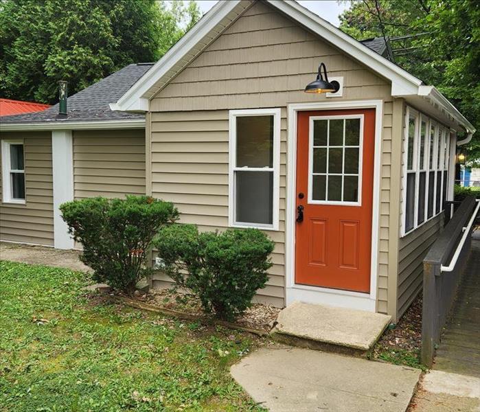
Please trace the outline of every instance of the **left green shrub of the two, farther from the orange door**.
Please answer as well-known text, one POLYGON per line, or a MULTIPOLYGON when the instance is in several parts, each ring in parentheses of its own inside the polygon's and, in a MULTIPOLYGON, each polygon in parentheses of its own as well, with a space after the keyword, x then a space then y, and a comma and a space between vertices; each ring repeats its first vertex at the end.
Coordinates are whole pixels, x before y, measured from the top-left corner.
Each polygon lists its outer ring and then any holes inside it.
POLYGON ((148 196, 87 198, 60 205, 69 233, 83 245, 80 259, 105 282, 128 294, 149 274, 146 257, 159 229, 174 221, 172 203, 148 196))

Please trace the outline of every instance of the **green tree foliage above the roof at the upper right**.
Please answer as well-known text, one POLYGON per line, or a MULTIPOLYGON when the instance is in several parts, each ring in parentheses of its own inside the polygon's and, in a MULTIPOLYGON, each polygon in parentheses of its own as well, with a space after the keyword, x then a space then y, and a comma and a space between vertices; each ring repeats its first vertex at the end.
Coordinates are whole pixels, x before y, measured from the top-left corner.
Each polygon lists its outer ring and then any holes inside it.
MULTIPOLYGON (((480 2, 352 1, 340 28, 361 40, 391 38, 398 65, 433 84, 480 130, 480 2)), ((474 135, 468 157, 480 159, 474 135)))

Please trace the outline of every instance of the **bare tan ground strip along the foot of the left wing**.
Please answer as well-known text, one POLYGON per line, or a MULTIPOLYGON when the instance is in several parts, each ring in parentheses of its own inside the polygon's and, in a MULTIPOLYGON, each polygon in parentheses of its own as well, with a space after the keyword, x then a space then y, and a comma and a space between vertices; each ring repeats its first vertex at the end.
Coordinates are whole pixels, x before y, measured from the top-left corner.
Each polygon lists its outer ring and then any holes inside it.
POLYGON ((91 269, 85 266, 78 256, 80 251, 63 251, 53 247, 30 246, 0 242, 0 259, 10 262, 27 264, 43 264, 45 266, 56 266, 68 268, 72 271, 89 272, 91 269))

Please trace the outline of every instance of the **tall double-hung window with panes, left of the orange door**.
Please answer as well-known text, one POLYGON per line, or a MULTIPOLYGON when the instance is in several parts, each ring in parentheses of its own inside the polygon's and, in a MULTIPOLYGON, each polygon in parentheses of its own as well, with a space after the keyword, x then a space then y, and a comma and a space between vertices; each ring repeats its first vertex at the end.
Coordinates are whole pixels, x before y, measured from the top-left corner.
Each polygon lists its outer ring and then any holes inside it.
POLYGON ((229 225, 278 229, 280 109, 230 111, 229 225))

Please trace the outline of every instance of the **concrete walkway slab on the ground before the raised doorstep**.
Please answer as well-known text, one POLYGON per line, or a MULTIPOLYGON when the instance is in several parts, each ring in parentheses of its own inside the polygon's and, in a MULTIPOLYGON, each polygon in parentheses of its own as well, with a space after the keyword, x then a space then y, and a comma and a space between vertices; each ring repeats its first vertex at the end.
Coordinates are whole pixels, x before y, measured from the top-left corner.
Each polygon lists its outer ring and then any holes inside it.
POLYGON ((269 347, 231 367, 271 412, 404 412, 420 370, 297 347, 269 347))

